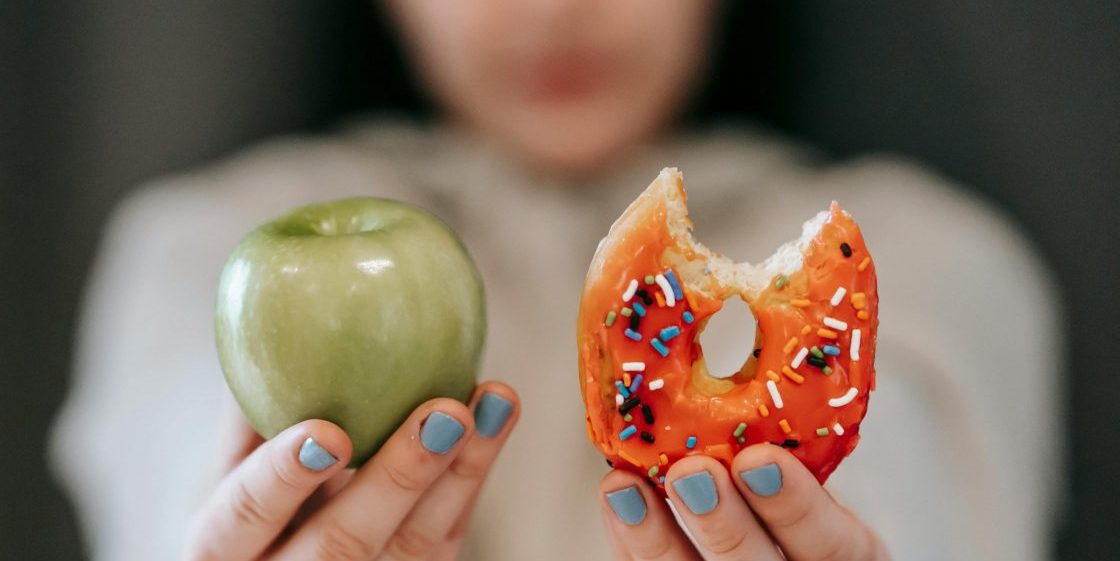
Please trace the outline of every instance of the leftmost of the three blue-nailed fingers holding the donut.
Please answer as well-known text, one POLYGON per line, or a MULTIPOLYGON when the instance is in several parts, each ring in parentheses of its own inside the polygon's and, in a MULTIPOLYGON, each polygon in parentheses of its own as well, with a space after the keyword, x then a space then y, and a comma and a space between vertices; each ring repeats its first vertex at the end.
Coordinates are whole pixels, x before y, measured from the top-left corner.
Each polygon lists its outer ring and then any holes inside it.
POLYGON ((599 503, 607 514, 607 532, 629 559, 699 560, 665 501, 643 478, 615 469, 599 481, 599 503))

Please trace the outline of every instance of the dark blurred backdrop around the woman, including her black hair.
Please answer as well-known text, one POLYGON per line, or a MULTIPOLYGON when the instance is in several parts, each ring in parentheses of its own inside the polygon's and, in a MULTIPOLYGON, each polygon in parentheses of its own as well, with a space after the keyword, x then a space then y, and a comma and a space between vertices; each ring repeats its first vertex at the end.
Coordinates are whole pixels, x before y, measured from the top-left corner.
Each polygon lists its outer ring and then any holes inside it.
MULTIPOLYGON (((911 155, 1006 208, 1051 261, 1071 342, 1055 552, 1117 559, 1120 3, 731 0, 722 21, 691 121, 753 119, 838 158, 911 155)), ((428 114, 367 2, 0 3, 0 559, 82 558, 43 447, 112 206, 380 107, 428 114)))

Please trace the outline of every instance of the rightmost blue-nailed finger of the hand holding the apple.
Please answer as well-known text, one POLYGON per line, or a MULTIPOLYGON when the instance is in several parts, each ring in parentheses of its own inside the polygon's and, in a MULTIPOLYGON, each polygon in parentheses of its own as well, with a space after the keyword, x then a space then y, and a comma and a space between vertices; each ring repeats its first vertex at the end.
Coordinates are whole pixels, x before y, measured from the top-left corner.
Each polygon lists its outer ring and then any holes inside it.
POLYGON ((520 415, 516 392, 497 382, 482 384, 470 405, 474 437, 404 517, 382 554, 385 561, 428 559, 460 516, 469 516, 467 507, 520 415))

